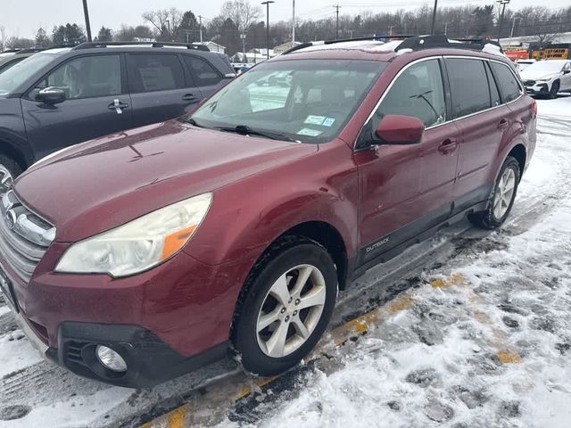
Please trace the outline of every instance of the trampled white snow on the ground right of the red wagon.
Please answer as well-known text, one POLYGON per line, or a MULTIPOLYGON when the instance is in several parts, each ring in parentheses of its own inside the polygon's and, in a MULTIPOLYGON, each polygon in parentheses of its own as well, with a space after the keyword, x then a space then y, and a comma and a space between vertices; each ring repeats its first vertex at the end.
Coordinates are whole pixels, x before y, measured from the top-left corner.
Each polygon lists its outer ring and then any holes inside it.
POLYGON ((552 210, 426 271, 403 310, 300 374, 294 399, 270 388, 253 421, 219 426, 569 426, 571 98, 540 101, 540 114, 514 215, 541 192, 559 193, 552 210))

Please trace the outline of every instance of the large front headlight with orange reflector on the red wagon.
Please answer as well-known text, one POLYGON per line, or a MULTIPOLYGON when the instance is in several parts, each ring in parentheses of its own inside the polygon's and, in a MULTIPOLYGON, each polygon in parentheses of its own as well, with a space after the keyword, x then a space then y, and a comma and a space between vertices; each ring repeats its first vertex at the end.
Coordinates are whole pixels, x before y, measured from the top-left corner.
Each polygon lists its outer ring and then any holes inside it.
POLYGON ((55 271, 118 277, 153 268, 188 242, 206 216, 211 200, 212 193, 203 193, 74 243, 55 271))

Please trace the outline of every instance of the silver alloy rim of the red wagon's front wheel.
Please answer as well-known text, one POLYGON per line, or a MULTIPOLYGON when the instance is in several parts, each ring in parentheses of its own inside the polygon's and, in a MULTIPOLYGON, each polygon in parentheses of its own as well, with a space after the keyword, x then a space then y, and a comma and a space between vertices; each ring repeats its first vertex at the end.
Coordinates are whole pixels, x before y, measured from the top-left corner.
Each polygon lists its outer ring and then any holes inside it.
POLYGON ((262 352, 282 358, 307 342, 324 309, 327 288, 323 274, 299 265, 280 276, 266 295, 256 323, 262 352))

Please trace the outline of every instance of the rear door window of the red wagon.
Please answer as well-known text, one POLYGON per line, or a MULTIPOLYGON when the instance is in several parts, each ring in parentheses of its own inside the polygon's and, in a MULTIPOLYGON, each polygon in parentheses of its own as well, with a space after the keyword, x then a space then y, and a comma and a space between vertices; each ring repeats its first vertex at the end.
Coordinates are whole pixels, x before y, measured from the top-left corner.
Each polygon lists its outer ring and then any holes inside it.
POLYGON ((463 58, 447 59, 454 118, 468 116, 491 107, 484 62, 463 58))

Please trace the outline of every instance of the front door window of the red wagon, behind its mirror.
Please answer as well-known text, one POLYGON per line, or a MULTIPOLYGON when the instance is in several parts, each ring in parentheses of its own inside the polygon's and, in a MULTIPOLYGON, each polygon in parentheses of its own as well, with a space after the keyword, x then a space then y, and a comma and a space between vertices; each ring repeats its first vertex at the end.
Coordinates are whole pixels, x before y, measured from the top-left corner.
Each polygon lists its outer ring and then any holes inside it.
POLYGON ((418 62, 402 72, 375 112, 372 129, 376 129, 387 114, 418 118, 426 128, 446 120, 443 77, 438 60, 418 62))

